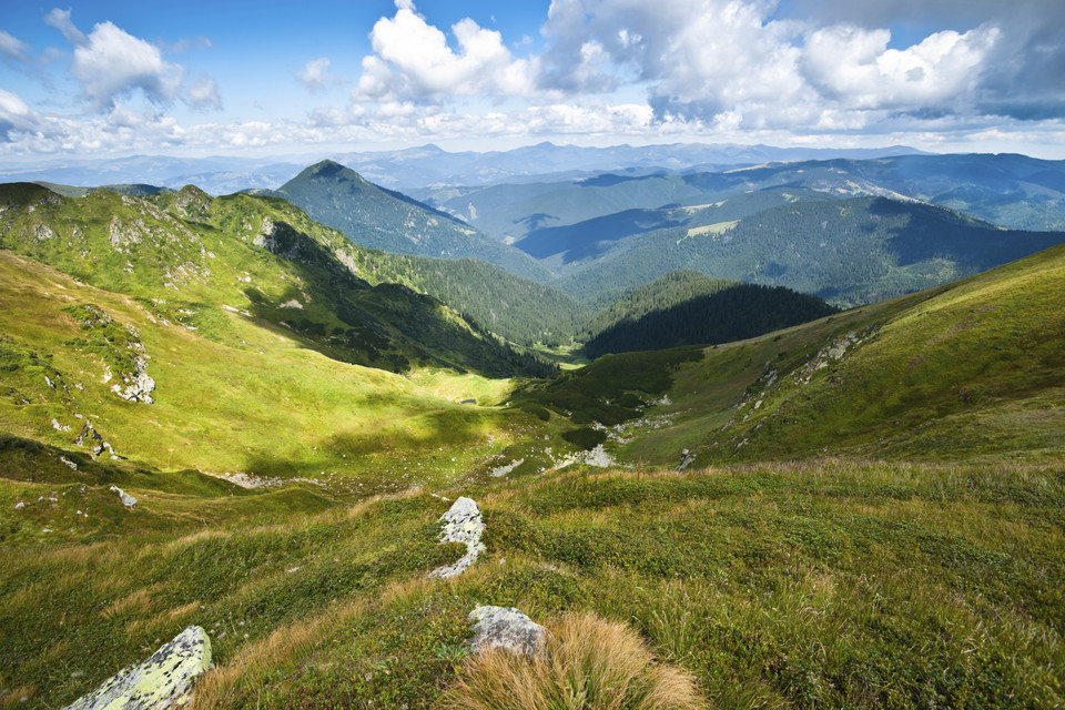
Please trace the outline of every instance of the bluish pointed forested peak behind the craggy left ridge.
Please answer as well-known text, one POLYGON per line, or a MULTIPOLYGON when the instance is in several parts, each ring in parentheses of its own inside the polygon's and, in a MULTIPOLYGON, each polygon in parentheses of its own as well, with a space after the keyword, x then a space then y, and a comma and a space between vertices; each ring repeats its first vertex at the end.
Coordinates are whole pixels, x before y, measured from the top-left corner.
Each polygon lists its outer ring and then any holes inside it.
POLYGON ((332 161, 307 168, 272 194, 362 246, 420 256, 479 258, 518 276, 547 280, 547 273, 521 252, 419 202, 368 183, 332 161))

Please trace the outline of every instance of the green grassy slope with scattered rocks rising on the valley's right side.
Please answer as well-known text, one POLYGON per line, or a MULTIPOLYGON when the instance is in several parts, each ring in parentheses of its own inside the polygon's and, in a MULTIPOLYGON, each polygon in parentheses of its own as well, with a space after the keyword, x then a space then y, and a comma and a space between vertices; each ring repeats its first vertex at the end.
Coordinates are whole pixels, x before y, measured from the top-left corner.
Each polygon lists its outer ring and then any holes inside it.
MULTIPOLYGON (((706 463, 1059 458, 1063 283, 1065 247, 1057 246, 951 285, 708 348, 701 358, 689 354, 663 373, 671 403, 647 410, 668 426, 637 427, 620 449, 653 464, 676 464, 682 448, 706 463)), ((627 371, 667 362, 615 358, 627 371)))

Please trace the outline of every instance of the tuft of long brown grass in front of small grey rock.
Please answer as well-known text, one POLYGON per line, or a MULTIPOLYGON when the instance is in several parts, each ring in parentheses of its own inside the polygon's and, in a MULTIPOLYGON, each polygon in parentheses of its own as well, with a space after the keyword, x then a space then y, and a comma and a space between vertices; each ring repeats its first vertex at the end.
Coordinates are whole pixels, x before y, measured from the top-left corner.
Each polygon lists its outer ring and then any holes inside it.
POLYGON ((500 649, 466 662, 444 710, 696 710, 707 707, 684 671, 655 661, 623 623, 592 613, 548 627, 535 658, 500 649))

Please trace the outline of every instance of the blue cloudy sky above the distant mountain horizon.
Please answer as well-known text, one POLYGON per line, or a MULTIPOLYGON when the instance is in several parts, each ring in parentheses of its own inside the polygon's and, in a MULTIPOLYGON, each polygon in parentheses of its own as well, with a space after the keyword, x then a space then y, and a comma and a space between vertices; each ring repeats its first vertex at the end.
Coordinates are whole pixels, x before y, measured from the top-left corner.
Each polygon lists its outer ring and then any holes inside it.
POLYGON ((1065 0, 0 0, 0 160, 435 143, 1065 159, 1065 0))

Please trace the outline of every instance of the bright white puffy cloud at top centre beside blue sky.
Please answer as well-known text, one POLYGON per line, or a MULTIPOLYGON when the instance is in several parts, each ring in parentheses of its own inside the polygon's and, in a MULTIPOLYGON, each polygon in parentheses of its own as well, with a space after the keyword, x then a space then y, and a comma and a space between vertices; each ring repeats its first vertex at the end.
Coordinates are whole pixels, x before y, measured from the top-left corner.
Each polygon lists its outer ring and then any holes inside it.
POLYGON ((529 62, 516 59, 503 36, 470 19, 452 26, 458 43, 417 14, 414 2, 396 0, 396 14, 374 24, 374 54, 352 92, 357 101, 425 101, 454 95, 532 94, 529 62))

